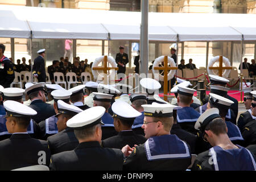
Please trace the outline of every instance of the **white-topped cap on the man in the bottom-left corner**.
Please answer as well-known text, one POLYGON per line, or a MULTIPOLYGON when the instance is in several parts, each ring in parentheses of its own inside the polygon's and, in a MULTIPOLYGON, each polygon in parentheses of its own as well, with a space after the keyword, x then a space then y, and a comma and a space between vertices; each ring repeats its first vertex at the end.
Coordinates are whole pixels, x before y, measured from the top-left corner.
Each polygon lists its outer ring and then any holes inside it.
POLYGON ((37 114, 37 112, 31 107, 16 101, 5 101, 3 102, 3 107, 5 107, 6 116, 30 117, 31 115, 37 114))

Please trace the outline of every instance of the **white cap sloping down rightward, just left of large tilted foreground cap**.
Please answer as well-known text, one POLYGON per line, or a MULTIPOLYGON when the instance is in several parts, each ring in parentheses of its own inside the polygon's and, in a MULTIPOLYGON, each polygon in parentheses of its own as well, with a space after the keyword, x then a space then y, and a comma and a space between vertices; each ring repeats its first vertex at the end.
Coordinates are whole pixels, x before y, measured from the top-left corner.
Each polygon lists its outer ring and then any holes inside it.
POLYGON ((73 117, 74 115, 82 111, 82 109, 80 109, 79 107, 67 104, 66 102, 61 100, 58 100, 57 104, 58 104, 58 113, 55 115, 55 117, 58 117, 58 115, 60 114, 68 114, 73 117))

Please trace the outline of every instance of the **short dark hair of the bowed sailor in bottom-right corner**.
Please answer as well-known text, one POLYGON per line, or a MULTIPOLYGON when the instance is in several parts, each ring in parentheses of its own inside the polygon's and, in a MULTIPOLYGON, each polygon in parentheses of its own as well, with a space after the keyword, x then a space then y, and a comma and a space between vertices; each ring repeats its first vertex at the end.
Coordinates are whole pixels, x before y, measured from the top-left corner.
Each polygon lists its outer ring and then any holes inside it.
POLYGON ((226 134, 226 123, 221 118, 215 118, 205 127, 205 130, 210 130, 216 135, 226 134))

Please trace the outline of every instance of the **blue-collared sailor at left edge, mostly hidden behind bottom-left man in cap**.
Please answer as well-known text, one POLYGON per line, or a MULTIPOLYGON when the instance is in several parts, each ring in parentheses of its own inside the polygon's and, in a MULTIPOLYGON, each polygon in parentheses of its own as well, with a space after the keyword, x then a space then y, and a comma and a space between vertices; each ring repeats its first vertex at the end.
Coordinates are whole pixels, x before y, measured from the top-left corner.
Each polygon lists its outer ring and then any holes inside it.
MULTIPOLYGON (((2 98, 3 102, 5 101, 16 101, 22 102, 22 96, 25 92, 24 89, 20 88, 5 88, 2 90, 2 98)), ((6 114, 0 115, 0 140, 10 138, 11 134, 7 131, 6 128, 6 114)), ((40 127, 38 123, 31 119, 30 124, 27 127, 27 133, 30 134, 32 138, 39 138, 40 137, 40 127)))

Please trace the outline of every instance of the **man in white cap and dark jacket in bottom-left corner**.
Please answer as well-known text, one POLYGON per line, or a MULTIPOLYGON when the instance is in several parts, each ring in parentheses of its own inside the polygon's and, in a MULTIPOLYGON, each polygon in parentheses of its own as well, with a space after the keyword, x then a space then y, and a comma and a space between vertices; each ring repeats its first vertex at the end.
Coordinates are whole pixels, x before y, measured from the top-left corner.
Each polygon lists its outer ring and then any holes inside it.
POLYGON ((50 152, 47 143, 31 138, 27 133, 30 117, 36 111, 16 101, 5 101, 6 127, 12 133, 10 139, 0 142, 0 170, 43 164, 49 166, 50 152))

